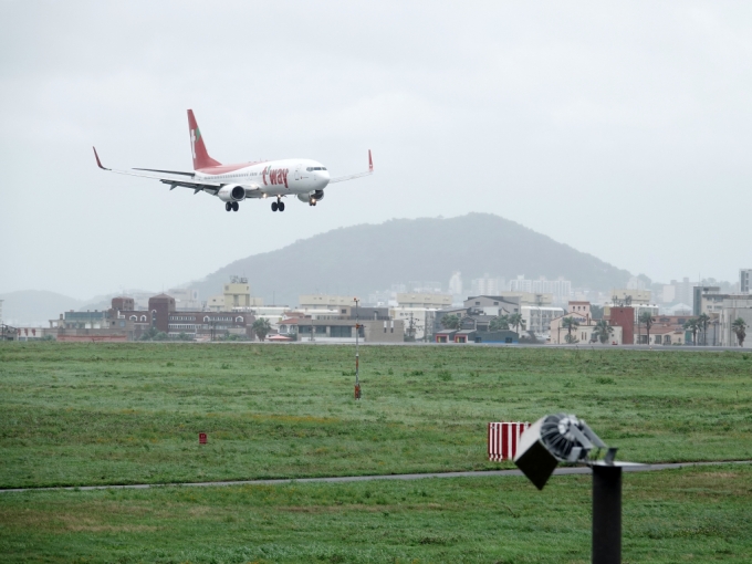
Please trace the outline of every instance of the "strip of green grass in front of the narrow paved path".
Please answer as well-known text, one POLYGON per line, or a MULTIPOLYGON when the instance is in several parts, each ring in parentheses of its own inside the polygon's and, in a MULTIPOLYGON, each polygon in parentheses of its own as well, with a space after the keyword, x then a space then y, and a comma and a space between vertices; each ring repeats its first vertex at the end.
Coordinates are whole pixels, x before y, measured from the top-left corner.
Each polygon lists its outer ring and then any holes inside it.
MULTIPOLYGON (((752 554, 752 468, 626 474, 624 562, 752 554)), ((3 562, 586 563, 591 479, 0 494, 3 562)))

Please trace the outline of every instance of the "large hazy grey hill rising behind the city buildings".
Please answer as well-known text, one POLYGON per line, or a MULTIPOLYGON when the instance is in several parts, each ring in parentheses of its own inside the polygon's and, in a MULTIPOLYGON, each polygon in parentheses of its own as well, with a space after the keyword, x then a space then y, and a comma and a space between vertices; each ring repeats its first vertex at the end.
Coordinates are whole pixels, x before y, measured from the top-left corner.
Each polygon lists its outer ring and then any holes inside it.
POLYGON ((564 276, 574 286, 624 286, 629 272, 579 252, 514 221, 489 213, 451 219, 395 219, 335 229, 278 251, 238 260, 192 285, 201 299, 221 293, 232 274, 246 275, 254 295, 294 305, 304 293, 367 297, 368 292, 409 281, 439 281, 452 271, 466 289, 492 276, 564 276))

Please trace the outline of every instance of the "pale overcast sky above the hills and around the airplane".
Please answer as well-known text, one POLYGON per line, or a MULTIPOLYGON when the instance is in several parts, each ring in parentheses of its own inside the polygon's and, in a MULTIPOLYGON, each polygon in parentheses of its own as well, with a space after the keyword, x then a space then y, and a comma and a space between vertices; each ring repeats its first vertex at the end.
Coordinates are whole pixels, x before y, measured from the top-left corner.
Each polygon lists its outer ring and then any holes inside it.
POLYGON ((749 2, 4 0, 0 21, 0 293, 161 290, 337 227, 470 211, 659 281, 752 267, 749 2), (370 148, 376 175, 227 213, 95 167, 92 145, 189 170, 187 108, 221 163, 338 176, 370 148))

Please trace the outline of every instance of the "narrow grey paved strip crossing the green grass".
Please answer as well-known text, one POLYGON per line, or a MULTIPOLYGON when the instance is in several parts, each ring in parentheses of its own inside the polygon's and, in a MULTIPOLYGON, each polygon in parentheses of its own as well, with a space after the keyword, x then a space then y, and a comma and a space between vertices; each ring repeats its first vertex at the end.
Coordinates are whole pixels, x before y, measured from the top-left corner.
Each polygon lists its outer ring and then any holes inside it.
MULTIPOLYGON (((752 464, 752 460, 718 460, 710 462, 672 462, 665 464, 634 464, 623 467, 625 472, 649 472, 654 470, 669 470, 672 468, 688 468, 696 466, 718 464, 752 464)), ((589 474, 589 467, 564 467, 554 470, 554 476, 589 474)), ((384 476, 338 476, 331 478, 281 478, 276 480, 237 480, 229 482, 188 482, 188 483, 133 483, 122 485, 61 485, 58 488, 13 488, 0 489, 0 493, 27 491, 58 491, 58 490, 147 490, 149 488, 218 488, 224 485, 279 485, 289 483, 314 482, 368 482, 373 480, 422 480, 426 478, 489 478, 494 476, 522 476, 520 470, 484 470, 479 472, 436 472, 422 474, 384 474, 384 476)))

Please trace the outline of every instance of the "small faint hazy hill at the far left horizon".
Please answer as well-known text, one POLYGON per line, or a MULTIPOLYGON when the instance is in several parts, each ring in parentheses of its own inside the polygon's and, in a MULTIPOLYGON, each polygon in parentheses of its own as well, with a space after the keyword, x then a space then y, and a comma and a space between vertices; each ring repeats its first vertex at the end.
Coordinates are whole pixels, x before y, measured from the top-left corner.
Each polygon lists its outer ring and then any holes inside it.
POLYGON ((49 327, 50 320, 60 314, 76 310, 81 300, 44 290, 23 290, 0 294, 2 304, 2 322, 9 325, 43 325, 49 327))

